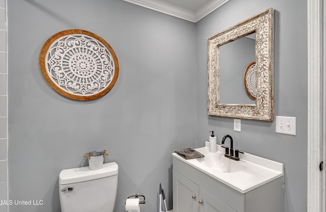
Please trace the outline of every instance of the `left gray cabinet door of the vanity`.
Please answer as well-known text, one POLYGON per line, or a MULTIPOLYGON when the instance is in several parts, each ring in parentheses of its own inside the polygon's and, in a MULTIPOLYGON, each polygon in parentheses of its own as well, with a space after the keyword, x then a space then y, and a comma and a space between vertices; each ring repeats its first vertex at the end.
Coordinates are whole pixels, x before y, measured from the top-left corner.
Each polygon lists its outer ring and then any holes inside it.
POLYGON ((173 211, 198 212, 197 184, 173 170, 173 211))

